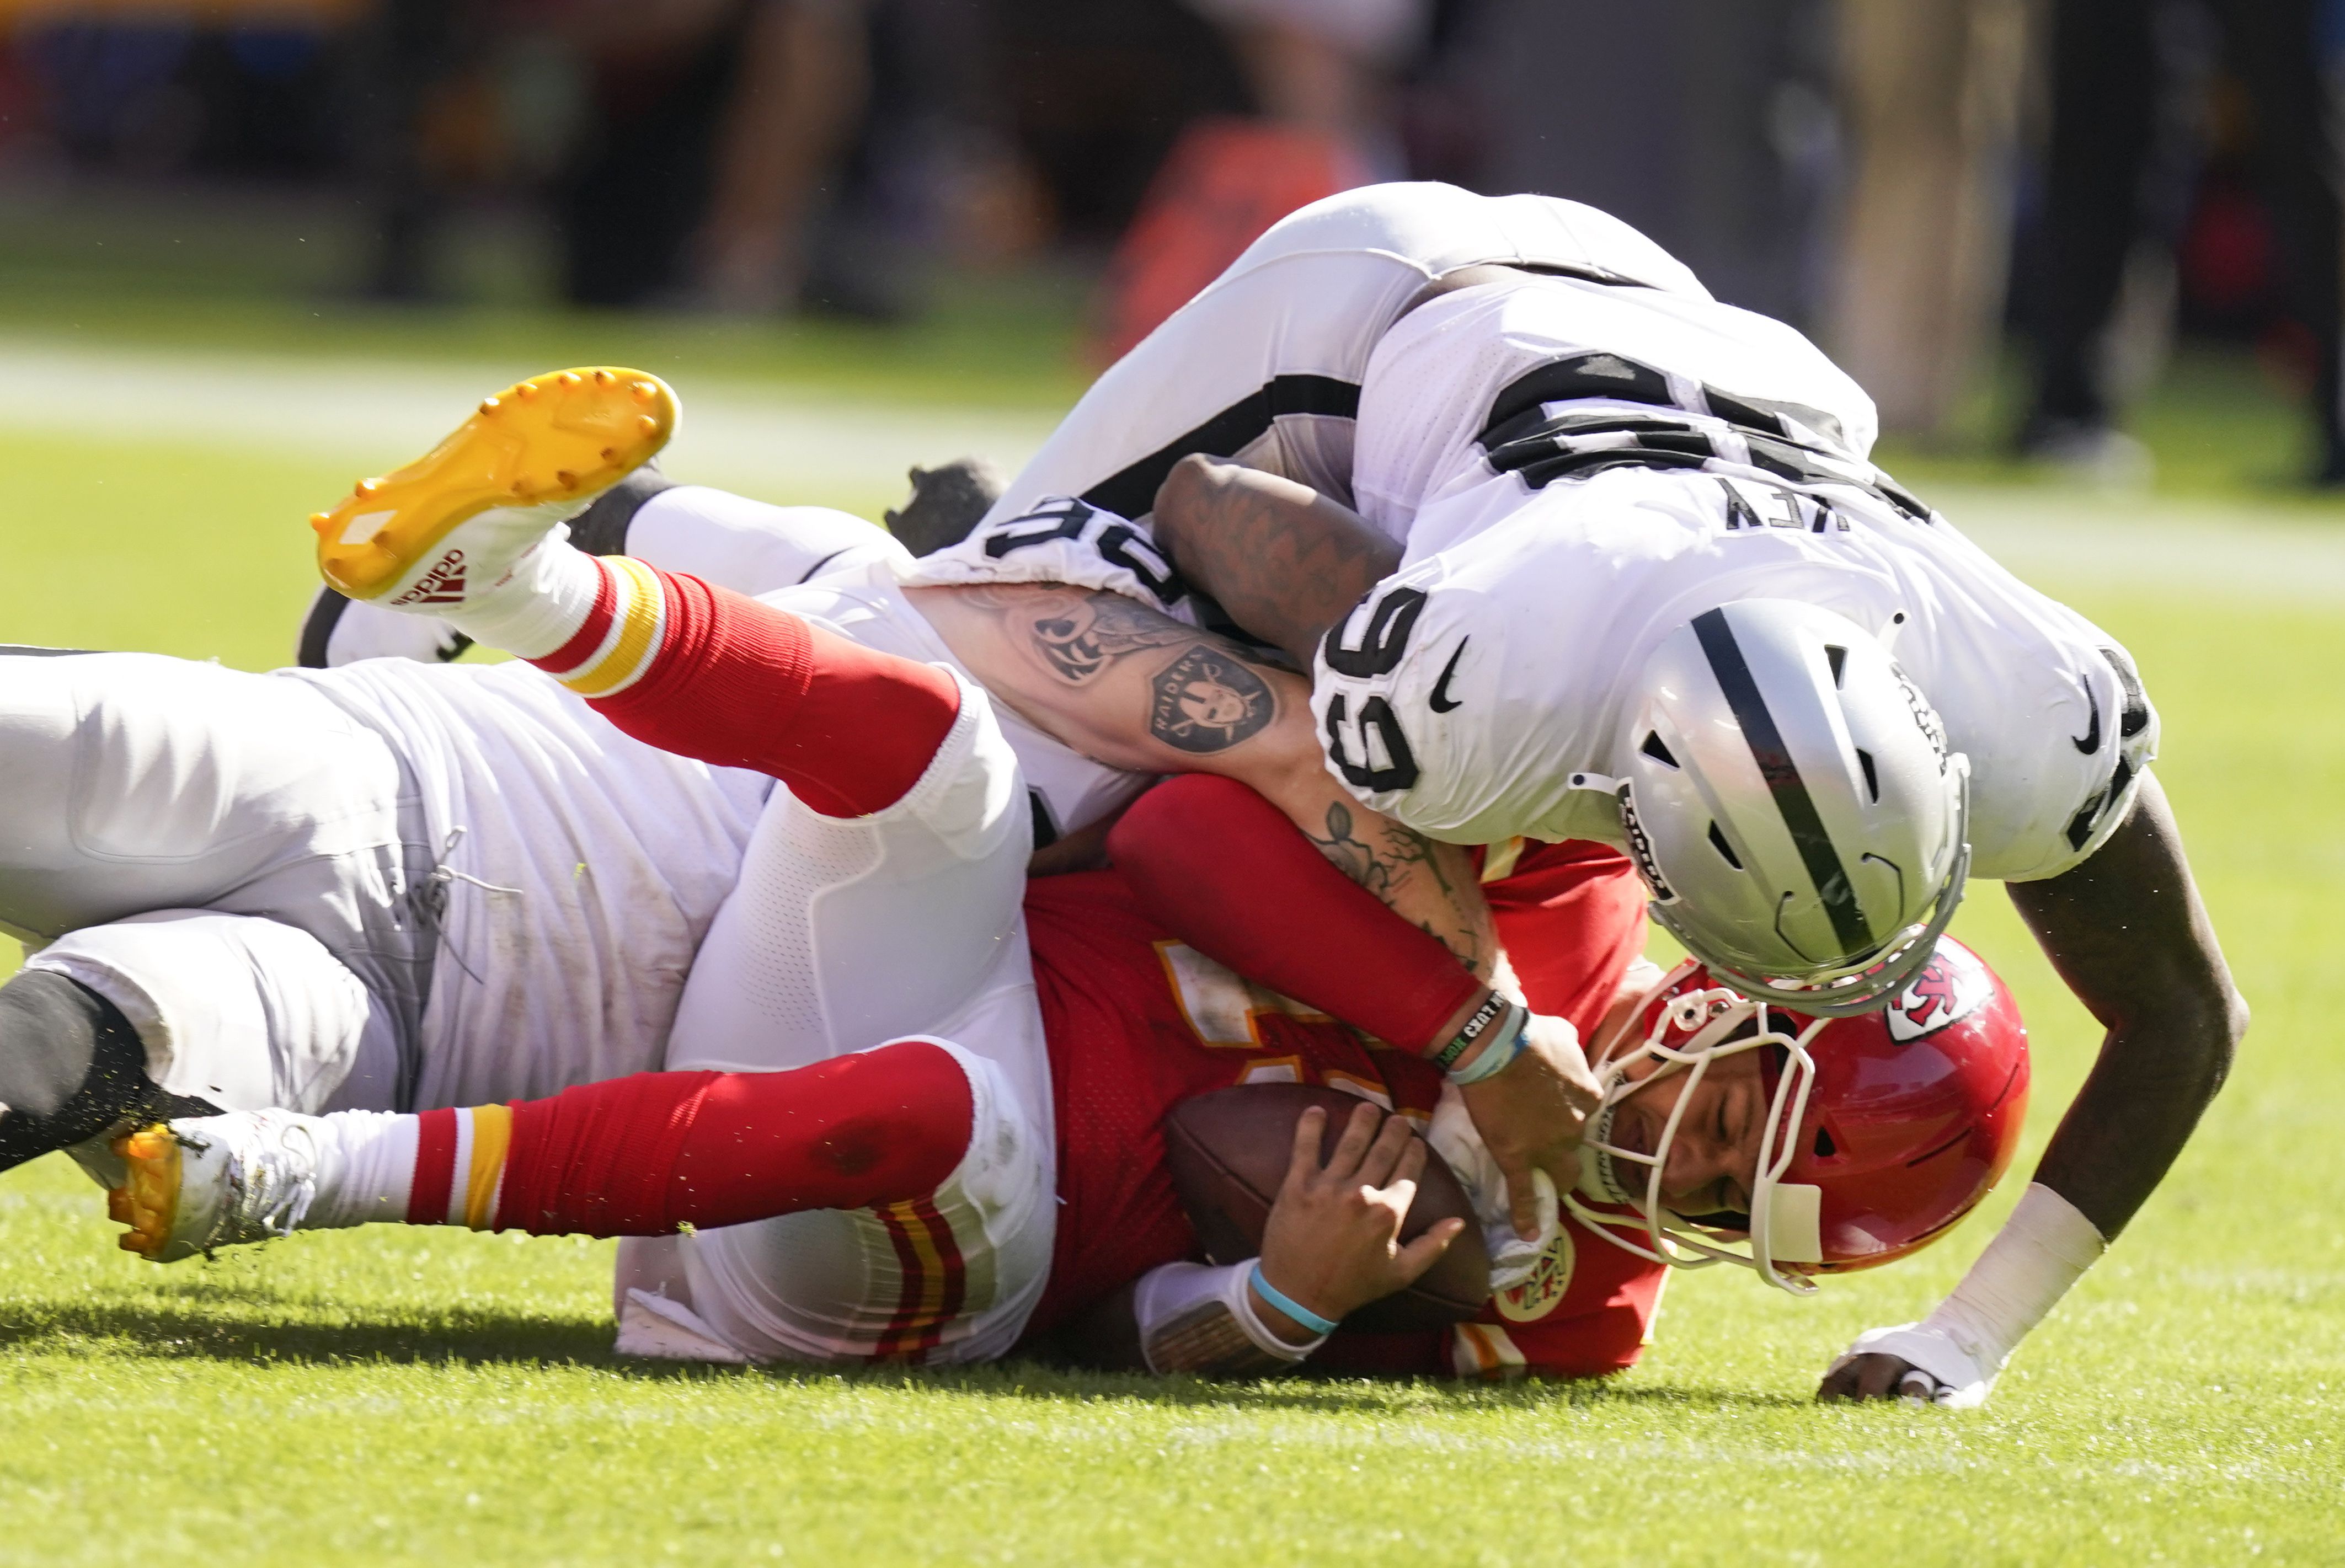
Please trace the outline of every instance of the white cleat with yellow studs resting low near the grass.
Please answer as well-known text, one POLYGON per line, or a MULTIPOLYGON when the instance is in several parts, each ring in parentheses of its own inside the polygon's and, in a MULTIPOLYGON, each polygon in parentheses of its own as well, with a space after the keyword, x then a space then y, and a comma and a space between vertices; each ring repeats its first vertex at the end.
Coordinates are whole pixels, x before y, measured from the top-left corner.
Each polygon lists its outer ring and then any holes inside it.
POLYGON ((115 1139, 127 1174, 106 1198, 124 1252, 176 1263, 291 1235, 317 1200, 324 1118, 235 1111, 155 1123, 115 1139))

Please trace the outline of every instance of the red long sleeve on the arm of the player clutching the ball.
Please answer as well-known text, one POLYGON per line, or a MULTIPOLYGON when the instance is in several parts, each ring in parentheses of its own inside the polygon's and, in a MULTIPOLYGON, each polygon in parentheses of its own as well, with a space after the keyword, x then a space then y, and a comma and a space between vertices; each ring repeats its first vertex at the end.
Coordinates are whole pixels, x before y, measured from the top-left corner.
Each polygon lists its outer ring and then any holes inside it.
POLYGON ((1107 834, 1107 853, 1140 907, 1189 947, 1402 1050, 1440 1045, 1482 989, 1229 778, 1156 785, 1107 834))

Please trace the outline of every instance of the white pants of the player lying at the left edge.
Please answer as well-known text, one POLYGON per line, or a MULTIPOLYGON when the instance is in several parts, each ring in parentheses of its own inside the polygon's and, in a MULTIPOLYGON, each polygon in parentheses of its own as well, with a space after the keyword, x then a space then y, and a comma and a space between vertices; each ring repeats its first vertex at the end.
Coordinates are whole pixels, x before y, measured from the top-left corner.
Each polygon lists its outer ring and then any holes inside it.
POLYGON ((413 806, 305 682, 0 656, 0 928, 113 1003, 174 1095, 392 1104, 431 975, 413 806))

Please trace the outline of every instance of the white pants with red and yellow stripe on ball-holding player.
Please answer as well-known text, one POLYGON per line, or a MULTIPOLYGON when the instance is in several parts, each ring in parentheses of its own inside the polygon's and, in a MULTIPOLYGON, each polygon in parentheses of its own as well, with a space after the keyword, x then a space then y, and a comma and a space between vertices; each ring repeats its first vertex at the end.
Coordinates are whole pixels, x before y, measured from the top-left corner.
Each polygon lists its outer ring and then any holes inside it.
MULTIPOLYGON (((865 647, 924 652, 900 593, 772 602, 865 647)), ((1051 1266, 1051 1062, 1022 898, 1032 813, 980 689, 910 795, 868 818, 776 790, 701 942, 671 1069, 779 1071, 924 1036, 968 1069, 976 1130, 931 1198, 626 1242, 619 1348, 687 1359, 1004 1355, 1051 1266)))

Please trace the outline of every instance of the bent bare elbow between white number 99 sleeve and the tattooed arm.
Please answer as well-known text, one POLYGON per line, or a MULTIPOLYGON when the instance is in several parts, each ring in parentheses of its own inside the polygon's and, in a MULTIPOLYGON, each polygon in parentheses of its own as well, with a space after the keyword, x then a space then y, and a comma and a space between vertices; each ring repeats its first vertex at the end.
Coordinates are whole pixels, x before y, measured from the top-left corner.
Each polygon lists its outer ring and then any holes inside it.
POLYGON ((1400 546, 1309 485, 1184 457, 1156 492, 1156 544, 1245 630, 1311 666, 1327 628, 1400 570, 1400 546))

